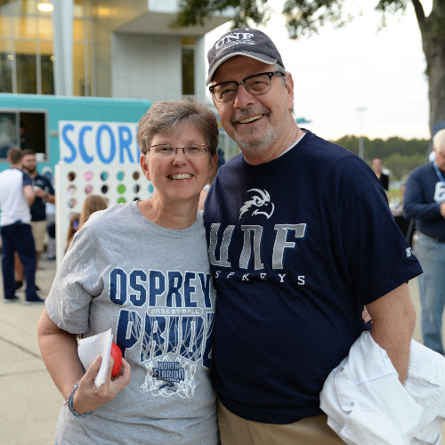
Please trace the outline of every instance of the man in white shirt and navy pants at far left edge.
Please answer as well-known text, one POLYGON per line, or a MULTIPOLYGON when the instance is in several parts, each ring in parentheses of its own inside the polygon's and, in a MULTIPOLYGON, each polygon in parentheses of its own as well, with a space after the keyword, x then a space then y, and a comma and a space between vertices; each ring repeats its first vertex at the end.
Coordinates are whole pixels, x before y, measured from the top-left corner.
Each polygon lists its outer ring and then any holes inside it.
POLYGON ((10 168, 0 173, 0 225, 2 227, 2 270, 4 303, 19 301, 15 295, 14 252, 20 256, 27 279, 25 303, 44 303, 36 294, 36 249, 31 232, 29 206, 35 199, 32 181, 21 171, 22 152, 12 147, 7 154, 10 168))

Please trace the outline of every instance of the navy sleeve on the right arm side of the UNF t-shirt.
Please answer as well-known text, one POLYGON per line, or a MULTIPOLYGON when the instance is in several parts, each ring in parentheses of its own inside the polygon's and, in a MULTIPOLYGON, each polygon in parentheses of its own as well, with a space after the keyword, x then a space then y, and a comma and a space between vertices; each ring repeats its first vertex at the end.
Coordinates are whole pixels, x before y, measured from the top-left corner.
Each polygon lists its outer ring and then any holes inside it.
POLYGON ((422 273, 394 222, 383 190, 374 184, 361 193, 344 217, 342 238, 352 283, 364 304, 422 273))

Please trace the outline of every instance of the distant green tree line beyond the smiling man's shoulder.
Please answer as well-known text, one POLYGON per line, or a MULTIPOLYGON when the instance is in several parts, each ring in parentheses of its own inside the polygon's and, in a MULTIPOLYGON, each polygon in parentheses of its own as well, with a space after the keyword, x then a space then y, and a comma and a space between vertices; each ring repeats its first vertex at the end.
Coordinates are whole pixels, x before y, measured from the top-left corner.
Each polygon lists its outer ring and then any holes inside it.
MULTIPOLYGON (((359 155, 359 138, 344 136, 336 144, 359 155)), ((417 166, 425 163, 426 150, 429 141, 426 139, 405 140, 399 137, 383 139, 364 138, 365 161, 370 165, 372 159, 381 158, 384 167, 391 170, 392 179, 401 179, 410 174, 417 166)))

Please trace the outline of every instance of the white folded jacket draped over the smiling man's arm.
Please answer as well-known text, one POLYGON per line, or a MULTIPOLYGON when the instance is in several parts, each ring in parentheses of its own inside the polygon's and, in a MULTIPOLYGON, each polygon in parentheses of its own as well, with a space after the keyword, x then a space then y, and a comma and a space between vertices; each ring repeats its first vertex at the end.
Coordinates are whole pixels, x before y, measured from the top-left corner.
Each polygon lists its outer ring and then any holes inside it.
POLYGON ((328 425, 349 445, 441 445, 445 358, 411 340, 405 384, 369 331, 320 392, 328 425))

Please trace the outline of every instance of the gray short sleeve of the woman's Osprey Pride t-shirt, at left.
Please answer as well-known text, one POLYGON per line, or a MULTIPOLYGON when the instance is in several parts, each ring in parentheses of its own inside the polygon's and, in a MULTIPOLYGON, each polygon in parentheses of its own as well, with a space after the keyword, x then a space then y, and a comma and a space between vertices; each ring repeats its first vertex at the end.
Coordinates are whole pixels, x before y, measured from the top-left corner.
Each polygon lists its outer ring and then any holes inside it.
POLYGON ((90 303, 103 290, 93 239, 91 226, 77 232, 45 300, 51 320, 71 334, 88 332, 90 303))

